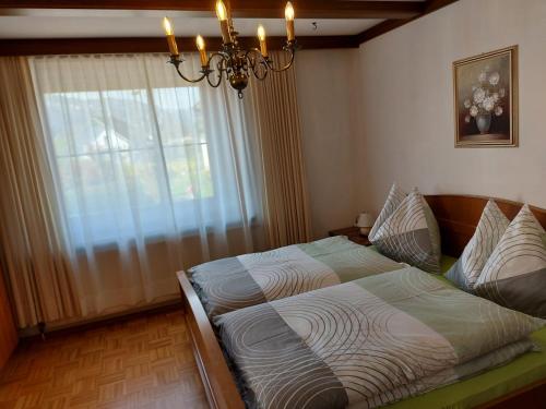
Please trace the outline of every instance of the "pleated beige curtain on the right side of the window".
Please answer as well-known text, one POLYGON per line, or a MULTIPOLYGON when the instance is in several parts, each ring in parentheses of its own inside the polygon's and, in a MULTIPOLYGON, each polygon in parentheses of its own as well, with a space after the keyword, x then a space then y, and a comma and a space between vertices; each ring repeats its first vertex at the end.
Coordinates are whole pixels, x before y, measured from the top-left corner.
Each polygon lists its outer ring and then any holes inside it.
MULTIPOLYGON (((288 55, 270 55, 284 67, 288 55)), ((301 132, 294 68, 252 79, 246 93, 246 109, 253 117, 260 141, 265 187, 265 215, 270 245, 277 248, 311 239, 301 132)))

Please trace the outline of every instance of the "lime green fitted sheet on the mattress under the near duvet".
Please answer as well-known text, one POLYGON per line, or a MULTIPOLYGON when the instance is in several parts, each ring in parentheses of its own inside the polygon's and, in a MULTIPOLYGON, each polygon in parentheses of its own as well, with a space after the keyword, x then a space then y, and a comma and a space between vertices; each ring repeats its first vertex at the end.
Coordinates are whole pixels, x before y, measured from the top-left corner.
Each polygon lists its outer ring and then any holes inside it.
MULTIPOLYGON (((449 267, 448 267, 449 268, 449 267)), ((446 277, 437 279, 453 286, 446 277)), ((542 352, 527 352, 503 365, 453 385, 429 392, 415 398, 388 405, 389 409, 466 409, 500 398, 507 394, 546 378, 546 328, 531 338, 542 352)))

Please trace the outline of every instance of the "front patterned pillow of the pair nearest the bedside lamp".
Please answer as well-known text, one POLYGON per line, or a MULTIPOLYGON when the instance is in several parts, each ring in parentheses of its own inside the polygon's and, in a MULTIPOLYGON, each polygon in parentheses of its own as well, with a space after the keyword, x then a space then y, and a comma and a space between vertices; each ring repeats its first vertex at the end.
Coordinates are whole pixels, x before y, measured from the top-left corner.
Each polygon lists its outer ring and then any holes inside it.
POLYGON ((440 273, 438 224, 417 189, 383 222, 371 242, 388 257, 425 272, 440 273))

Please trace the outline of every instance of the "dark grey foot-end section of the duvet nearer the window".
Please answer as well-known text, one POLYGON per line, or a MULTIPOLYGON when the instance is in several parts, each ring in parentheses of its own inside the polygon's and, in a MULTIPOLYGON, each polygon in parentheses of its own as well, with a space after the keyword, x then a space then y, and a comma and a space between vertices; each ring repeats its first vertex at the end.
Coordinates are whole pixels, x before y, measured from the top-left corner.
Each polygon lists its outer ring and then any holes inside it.
POLYGON ((201 264, 190 268, 188 276, 209 315, 266 301, 260 286, 237 257, 201 264), (212 282, 214 285, 211 285, 212 282), (225 301, 226 297, 229 300, 228 304, 225 301))

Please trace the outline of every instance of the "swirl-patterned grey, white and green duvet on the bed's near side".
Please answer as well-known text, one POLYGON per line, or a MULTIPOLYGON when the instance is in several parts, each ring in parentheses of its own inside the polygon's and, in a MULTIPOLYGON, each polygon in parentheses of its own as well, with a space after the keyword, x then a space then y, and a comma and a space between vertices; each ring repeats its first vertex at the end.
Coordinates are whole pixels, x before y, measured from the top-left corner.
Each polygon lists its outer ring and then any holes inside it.
POLYGON ((216 316, 250 408, 375 408, 509 362, 544 321, 414 268, 216 316))

